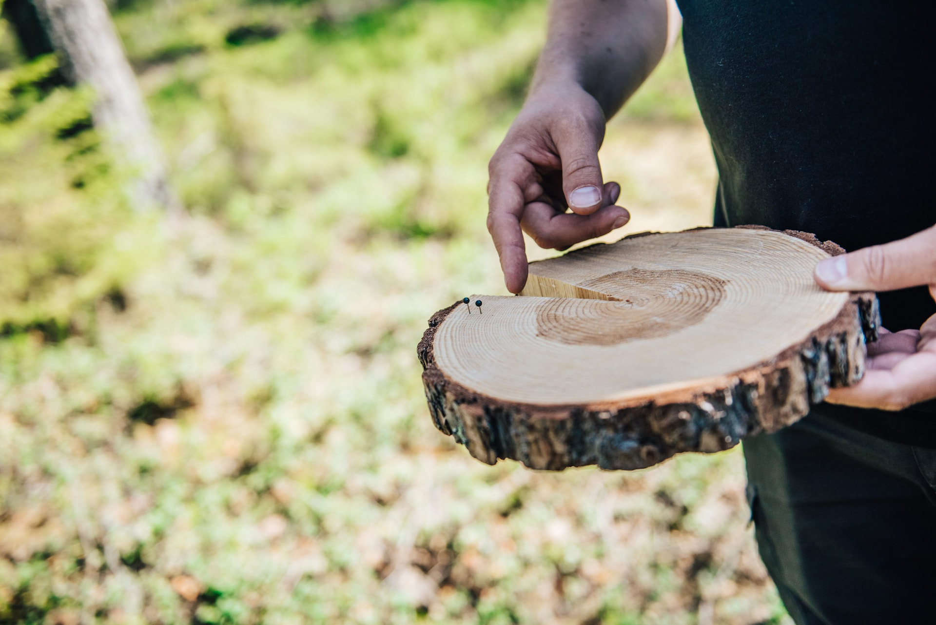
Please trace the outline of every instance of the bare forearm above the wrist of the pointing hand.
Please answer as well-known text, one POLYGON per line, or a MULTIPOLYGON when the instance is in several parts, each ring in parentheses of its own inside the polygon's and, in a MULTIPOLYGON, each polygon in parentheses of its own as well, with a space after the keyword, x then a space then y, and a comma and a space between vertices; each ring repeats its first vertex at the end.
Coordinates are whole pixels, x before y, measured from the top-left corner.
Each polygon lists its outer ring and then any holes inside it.
POLYGON ((531 95, 575 82, 608 118, 659 63, 666 38, 666 0, 552 0, 531 95))

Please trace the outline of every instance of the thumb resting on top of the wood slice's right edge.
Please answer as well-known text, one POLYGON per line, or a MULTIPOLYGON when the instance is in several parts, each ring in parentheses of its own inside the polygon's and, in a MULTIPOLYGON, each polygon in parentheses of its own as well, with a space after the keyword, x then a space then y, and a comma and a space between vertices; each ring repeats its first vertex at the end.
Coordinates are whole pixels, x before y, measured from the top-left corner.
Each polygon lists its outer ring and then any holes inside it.
POLYGON ((936 284, 936 227, 826 258, 816 265, 814 276, 830 291, 891 291, 936 284))

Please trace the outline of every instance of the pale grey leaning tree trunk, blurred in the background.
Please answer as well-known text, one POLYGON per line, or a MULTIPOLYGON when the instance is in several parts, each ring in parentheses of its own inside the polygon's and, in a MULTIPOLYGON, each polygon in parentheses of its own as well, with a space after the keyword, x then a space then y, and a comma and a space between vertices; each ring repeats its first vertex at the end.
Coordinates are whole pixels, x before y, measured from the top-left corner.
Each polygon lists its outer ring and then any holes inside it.
POLYGON ((88 84, 97 94, 95 128, 131 172, 127 191, 134 208, 179 210, 149 112, 104 0, 33 2, 66 79, 88 84))

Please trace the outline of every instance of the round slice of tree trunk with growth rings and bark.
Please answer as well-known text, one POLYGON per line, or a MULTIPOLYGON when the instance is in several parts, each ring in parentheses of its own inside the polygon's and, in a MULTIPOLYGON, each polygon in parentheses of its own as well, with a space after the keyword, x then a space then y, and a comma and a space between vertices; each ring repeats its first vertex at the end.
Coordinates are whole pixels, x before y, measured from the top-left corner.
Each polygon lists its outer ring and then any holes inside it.
POLYGON ((860 380, 877 338, 873 293, 812 280, 843 252, 740 226, 531 263, 524 297, 432 316, 418 347, 432 420, 483 462, 549 470, 640 469, 781 429, 860 380))

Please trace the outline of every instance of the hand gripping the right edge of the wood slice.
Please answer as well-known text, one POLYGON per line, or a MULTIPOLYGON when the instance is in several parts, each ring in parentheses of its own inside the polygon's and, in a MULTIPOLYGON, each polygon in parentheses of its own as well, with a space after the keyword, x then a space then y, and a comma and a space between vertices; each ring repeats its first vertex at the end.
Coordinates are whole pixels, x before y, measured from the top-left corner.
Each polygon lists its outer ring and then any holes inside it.
MULTIPOLYGON (((890 291, 929 285, 936 298, 936 226, 907 239, 820 262, 815 280, 831 291, 890 291)), ((884 330, 868 345, 865 377, 826 398, 859 408, 902 410, 936 398, 936 315, 919 330, 884 330)))

